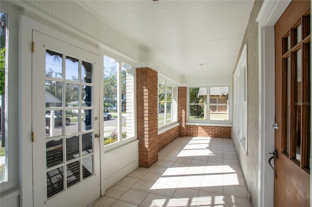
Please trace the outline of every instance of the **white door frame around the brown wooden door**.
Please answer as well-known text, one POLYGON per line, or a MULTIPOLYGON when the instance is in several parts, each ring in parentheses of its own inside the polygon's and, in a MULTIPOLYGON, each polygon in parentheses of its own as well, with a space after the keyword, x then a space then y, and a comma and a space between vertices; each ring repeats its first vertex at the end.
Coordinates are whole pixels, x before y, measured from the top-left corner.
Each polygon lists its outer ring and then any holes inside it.
MULTIPOLYGON (((274 130, 272 127, 275 122, 274 25, 290 3, 291 0, 264 1, 256 19, 259 46, 258 206, 273 207, 274 205, 274 175, 268 163, 271 156, 268 153, 272 153, 274 150, 274 130)), ((310 116, 312 117, 311 114, 310 116)), ((312 180, 310 179, 310 197, 311 195, 312 180)), ((310 202, 312 205, 311 200, 310 202)))

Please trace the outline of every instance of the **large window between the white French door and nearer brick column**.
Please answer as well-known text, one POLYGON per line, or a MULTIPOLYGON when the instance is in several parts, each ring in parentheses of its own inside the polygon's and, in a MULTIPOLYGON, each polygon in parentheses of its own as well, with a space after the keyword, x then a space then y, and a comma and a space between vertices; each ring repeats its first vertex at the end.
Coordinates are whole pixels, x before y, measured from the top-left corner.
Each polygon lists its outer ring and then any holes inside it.
POLYGON ((104 145, 134 137, 134 69, 104 56, 104 145))

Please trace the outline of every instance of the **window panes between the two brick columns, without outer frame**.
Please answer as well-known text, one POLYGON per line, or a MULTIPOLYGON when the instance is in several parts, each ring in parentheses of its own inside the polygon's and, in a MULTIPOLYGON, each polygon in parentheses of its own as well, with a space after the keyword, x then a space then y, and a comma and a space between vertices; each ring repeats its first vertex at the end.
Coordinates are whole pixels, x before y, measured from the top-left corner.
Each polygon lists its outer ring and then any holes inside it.
POLYGON ((158 81, 158 127, 177 121, 177 86, 158 81))

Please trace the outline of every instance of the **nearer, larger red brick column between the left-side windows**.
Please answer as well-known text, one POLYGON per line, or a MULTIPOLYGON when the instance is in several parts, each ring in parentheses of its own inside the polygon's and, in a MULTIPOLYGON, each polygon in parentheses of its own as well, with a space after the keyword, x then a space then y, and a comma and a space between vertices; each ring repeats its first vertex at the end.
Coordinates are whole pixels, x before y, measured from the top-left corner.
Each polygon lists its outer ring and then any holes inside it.
POLYGON ((150 68, 137 69, 137 139, 139 166, 158 160, 158 77, 150 68))

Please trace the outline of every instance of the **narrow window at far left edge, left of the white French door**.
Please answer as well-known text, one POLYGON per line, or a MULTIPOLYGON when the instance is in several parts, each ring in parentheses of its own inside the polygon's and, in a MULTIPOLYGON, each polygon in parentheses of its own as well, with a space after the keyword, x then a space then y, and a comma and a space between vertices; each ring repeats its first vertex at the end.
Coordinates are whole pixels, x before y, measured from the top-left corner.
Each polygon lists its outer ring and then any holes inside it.
POLYGON ((7 117, 7 110, 6 100, 7 100, 7 83, 6 83, 6 74, 7 74, 7 67, 6 67, 6 22, 7 16, 6 14, 0 12, 0 19, 1 19, 1 28, 0 28, 0 183, 7 181, 7 157, 6 157, 6 143, 7 143, 7 136, 6 136, 6 117, 7 117))

